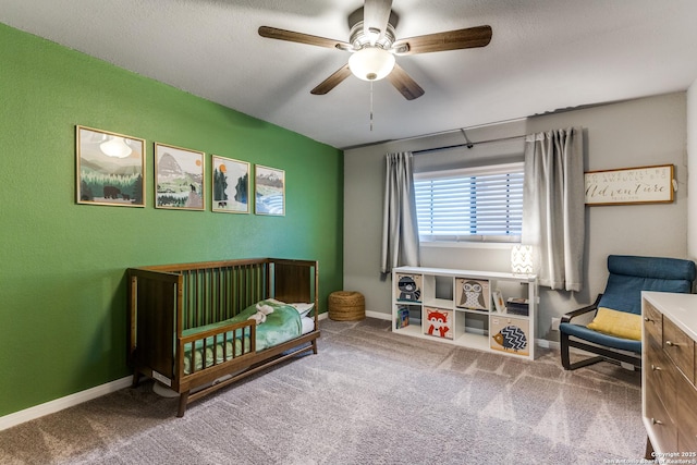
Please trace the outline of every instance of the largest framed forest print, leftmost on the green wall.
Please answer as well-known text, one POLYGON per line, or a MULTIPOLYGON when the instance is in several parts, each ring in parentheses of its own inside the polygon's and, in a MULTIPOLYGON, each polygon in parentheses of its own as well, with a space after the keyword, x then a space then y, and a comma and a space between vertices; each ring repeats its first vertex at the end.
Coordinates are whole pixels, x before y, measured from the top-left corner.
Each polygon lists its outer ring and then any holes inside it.
POLYGON ((145 139, 75 126, 77 204, 145 207, 145 139))

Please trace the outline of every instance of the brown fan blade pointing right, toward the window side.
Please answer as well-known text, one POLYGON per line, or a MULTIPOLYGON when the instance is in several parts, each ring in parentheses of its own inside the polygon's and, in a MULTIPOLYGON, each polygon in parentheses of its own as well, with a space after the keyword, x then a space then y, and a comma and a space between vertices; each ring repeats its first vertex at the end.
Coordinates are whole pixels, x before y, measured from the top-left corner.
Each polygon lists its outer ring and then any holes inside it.
POLYGON ((430 53, 486 47, 490 41, 491 26, 477 26, 401 39, 394 42, 393 49, 396 54, 430 53))

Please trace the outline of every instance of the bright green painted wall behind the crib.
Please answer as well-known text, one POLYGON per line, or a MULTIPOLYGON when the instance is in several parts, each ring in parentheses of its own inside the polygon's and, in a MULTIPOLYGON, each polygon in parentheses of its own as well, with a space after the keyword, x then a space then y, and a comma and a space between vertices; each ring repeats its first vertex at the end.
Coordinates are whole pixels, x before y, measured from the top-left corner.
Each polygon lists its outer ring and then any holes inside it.
POLYGON ((130 375, 127 267, 317 259, 326 310, 341 150, 2 24, 0 44, 0 416, 130 375), (76 124, 147 140, 146 208, 75 203, 76 124), (207 211, 154 208, 155 142, 206 152, 207 211), (285 170, 285 216, 211 212, 211 154, 285 170))

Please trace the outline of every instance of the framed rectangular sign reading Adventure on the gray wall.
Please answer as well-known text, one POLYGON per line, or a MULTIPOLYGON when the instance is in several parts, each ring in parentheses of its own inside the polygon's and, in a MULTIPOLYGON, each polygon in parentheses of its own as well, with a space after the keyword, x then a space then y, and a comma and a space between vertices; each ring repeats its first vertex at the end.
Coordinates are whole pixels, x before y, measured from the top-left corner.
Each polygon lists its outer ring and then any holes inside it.
POLYGON ((673 166, 623 168, 585 173, 586 205, 673 201, 673 166))

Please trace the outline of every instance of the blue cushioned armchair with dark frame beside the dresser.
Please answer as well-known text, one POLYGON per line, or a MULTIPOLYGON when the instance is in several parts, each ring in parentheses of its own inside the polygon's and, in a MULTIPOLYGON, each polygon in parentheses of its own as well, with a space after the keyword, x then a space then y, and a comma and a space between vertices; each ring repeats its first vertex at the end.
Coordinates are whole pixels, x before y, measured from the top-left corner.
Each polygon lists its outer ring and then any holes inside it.
MULTIPOLYGON (((641 368, 641 341, 608 334, 613 331, 596 331, 572 321, 599 308, 641 315, 641 291, 690 293, 695 280, 695 264, 690 260, 659 257, 608 256, 608 283, 604 293, 592 305, 563 316, 559 327, 564 369, 573 370, 598 362, 624 362, 641 368), (571 364, 568 348, 577 347, 598 354, 571 364)), ((607 310, 601 310, 606 311, 607 310)), ((622 314, 620 318, 626 317, 622 314)), ((629 319, 635 317, 628 317, 629 319)), ((639 323, 640 325, 640 323, 639 323)), ((640 327, 639 327, 640 334, 640 327)))

